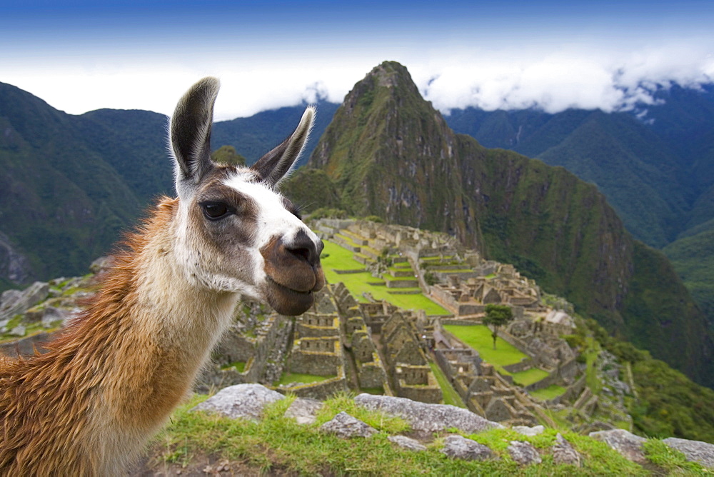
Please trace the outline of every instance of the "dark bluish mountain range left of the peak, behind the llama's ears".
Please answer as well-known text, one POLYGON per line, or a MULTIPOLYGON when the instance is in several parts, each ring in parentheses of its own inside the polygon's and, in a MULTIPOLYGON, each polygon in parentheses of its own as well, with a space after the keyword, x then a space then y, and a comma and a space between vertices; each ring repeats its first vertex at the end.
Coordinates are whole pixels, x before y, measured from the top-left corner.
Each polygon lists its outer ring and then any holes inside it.
MULTIPOLYGON (((213 146, 236 146, 252 164, 292 132, 304 107, 218 122, 213 146)), ((303 161, 337 105, 318 107, 303 161)), ((156 196, 174 194, 167 124, 151 111, 66 114, 0 83, 0 290, 84 273, 156 196)))

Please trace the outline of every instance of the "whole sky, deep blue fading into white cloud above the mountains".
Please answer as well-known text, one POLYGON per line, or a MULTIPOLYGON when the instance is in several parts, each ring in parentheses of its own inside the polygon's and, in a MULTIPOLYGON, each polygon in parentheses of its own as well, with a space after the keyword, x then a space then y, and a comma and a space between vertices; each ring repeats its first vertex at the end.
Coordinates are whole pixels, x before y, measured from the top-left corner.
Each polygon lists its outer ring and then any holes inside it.
POLYGON ((0 1, 0 81, 71 114, 170 114, 208 74, 216 119, 341 101, 383 60, 444 112, 613 111, 714 78, 713 1, 0 1))

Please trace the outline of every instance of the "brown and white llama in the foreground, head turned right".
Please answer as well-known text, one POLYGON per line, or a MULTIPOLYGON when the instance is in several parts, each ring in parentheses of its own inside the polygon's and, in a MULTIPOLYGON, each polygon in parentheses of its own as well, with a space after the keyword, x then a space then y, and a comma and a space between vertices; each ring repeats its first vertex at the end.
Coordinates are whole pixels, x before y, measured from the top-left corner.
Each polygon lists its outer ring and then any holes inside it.
POLYGON ((31 358, 0 358, 0 475, 126 472, 191 392, 241 296, 298 315, 325 283, 323 244, 276 185, 311 129, 250 168, 210 159, 218 80, 198 81, 169 125, 176 194, 128 236, 102 288, 31 358))

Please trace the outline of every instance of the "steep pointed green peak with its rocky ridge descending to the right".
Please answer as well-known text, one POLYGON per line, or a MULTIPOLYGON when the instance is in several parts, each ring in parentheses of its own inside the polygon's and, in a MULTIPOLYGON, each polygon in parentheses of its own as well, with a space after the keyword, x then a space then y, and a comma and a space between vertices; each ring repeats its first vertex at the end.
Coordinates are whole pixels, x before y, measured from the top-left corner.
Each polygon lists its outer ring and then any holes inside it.
POLYGON ((514 263, 608 331, 714 383, 705 318, 666 259, 633 241, 595 186, 453 134, 403 66, 386 62, 356 84, 309 166, 326 173, 352 214, 457 236, 514 263), (660 309, 663 296, 672 303, 660 309))

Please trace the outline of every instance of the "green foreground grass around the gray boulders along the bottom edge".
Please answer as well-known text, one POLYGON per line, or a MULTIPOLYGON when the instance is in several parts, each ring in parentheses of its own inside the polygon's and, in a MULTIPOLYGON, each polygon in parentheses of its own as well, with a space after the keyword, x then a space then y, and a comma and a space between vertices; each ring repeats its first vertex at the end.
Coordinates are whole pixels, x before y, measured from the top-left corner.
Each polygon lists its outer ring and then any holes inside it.
MULTIPOLYGON (((497 458, 488 461, 450 459, 440 452, 443 438, 437 437, 423 452, 406 451, 388 441, 388 436, 408 431, 400 418, 368 411, 347 394, 326 401, 316 423, 301 426, 285 418, 292 396, 272 403, 261 421, 223 418, 189 410, 206 396, 196 396, 171 416, 171 425, 156 438, 154 449, 164 461, 187 465, 193 456, 213 456, 239 461, 263 474, 356 475, 356 476, 600 476, 646 475, 640 466, 627 461, 607 444, 587 436, 564 432, 563 437, 583 456, 581 468, 558 466, 548 451, 555 442, 553 429, 540 436, 521 436, 511 429, 494 429, 468 436, 491 447, 497 458), (345 411, 376 428, 371 438, 344 440, 322 433, 319 426, 345 411), (529 441, 543 451, 543 463, 523 467, 506 451, 509 441, 529 441)), ((655 453, 654 455, 657 455, 655 453)), ((680 464, 675 464, 680 466, 680 464)), ((681 467, 684 468, 684 467, 681 467)), ((688 468, 687 468, 688 469, 688 468)))

